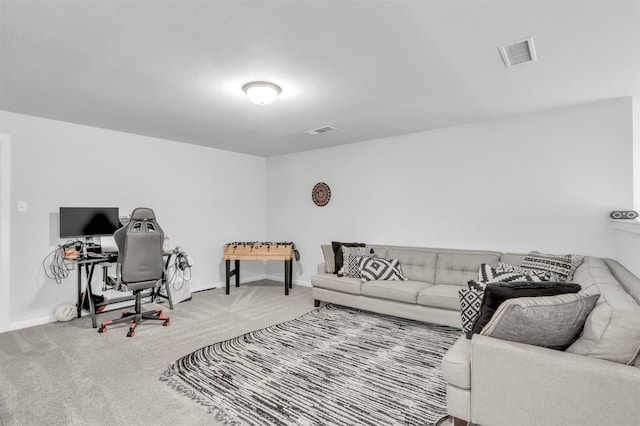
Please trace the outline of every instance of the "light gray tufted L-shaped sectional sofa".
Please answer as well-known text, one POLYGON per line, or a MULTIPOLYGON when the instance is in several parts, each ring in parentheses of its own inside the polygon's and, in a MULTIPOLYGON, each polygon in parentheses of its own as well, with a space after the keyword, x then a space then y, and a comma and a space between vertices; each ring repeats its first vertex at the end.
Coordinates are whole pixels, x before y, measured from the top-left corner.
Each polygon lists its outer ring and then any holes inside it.
MULTIPOLYGON (((326 273, 312 294, 363 310, 461 326, 458 290, 482 263, 520 265, 524 254, 370 245, 398 259, 408 281, 368 281, 326 273)), ((442 361, 447 407, 457 424, 640 424, 640 280, 610 259, 585 257, 571 282, 600 294, 582 335, 566 351, 485 335, 462 335, 442 361)))

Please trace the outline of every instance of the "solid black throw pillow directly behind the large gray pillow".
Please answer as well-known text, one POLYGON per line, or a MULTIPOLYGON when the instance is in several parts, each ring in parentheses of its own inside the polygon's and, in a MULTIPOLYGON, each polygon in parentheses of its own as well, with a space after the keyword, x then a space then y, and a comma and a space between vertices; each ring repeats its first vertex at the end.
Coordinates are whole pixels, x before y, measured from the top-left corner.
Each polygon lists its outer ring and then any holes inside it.
POLYGON ((555 296, 565 293, 577 293, 580 291, 580 288, 579 284, 549 281, 490 284, 484 289, 480 315, 473 323, 471 332, 467 333, 467 338, 470 339, 472 334, 480 333, 505 300, 516 297, 555 296))

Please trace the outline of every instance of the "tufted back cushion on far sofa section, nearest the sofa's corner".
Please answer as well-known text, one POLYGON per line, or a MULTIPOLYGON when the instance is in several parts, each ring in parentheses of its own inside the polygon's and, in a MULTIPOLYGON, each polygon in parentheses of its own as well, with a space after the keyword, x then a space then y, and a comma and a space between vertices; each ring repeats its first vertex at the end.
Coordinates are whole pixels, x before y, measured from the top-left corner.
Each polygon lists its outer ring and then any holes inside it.
POLYGON ((500 253, 474 251, 441 251, 438 253, 435 284, 466 286, 478 278, 480 265, 498 264, 500 253))

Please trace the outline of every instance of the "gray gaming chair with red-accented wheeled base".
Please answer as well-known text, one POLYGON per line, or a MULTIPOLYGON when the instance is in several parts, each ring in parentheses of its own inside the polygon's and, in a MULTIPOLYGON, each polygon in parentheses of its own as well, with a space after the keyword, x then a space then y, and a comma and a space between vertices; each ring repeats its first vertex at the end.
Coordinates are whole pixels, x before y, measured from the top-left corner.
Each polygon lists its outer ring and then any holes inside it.
POLYGON ((164 321, 162 325, 168 326, 169 317, 162 315, 162 309, 141 311, 142 291, 162 285, 164 276, 164 232, 156 222, 153 210, 135 209, 129 223, 118 229, 113 237, 118 246, 117 275, 113 285, 121 291, 133 291, 135 312, 123 312, 121 318, 103 322, 98 333, 104 333, 107 325, 125 321, 131 321, 127 337, 135 336, 135 328, 142 320, 164 321))

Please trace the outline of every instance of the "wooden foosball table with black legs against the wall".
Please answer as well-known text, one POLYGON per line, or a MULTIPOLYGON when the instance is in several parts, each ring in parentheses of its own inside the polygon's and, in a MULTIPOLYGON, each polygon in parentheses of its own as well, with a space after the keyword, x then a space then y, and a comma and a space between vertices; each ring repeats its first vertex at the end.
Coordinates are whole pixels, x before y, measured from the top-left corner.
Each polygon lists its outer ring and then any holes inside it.
POLYGON ((284 261, 284 294, 289 295, 292 288, 293 258, 297 255, 295 245, 290 242, 235 242, 224 245, 224 260, 226 264, 226 285, 229 294, 231 277, 236 277, 236 287, 240 287, 241 260, 282 260, 284 261), (231 270, 231 261, 234 269, 231 270))

